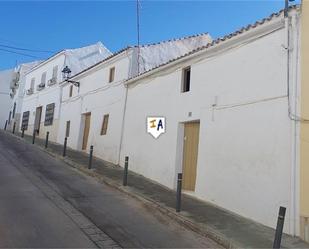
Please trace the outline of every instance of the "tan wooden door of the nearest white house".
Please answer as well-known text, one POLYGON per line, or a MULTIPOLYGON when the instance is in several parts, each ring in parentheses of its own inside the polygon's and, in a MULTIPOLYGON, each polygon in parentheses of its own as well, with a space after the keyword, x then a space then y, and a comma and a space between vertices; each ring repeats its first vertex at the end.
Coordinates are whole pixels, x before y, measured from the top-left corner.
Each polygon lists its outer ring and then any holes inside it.
POLYGON ((199 133, 199 122, 185 123, 182 166, 182 188, 184 190, 195 190, 199 133))

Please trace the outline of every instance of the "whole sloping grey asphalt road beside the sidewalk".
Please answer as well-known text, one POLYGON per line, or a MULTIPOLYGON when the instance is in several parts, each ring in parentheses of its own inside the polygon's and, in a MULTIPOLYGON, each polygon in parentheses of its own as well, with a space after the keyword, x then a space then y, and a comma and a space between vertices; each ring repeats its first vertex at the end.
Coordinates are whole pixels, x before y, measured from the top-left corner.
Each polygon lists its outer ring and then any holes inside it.
POLYGON ((0 131, 0 247, 219 246, 0 131))

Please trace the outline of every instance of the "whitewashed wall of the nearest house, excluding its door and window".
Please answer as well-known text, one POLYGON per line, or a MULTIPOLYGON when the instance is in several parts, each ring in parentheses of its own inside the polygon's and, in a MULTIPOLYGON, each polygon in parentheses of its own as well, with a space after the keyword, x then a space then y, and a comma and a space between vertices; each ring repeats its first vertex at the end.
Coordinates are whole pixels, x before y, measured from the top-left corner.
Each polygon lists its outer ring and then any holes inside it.
POLYGON ((121 164, 129 156, 131 170, 174 188, 183 122, 199 120, 193 195, 270 227, 280 205, 290 217, 293 137, 284 43, 281 29, 129 85, 121 164), (188 65, 191 90, 181 93, 188 65), (146 132, 147 116, 166 117, 166 133, 157 140, 146 132))

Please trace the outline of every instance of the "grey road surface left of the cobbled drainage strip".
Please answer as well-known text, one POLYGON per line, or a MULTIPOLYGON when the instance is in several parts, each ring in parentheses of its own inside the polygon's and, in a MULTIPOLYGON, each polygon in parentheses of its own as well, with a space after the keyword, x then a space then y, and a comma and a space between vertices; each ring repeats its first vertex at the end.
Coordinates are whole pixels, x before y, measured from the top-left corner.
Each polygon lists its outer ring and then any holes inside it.
POLYGON ((0 247, 96 248, 15 162, 1 138, 0 247))

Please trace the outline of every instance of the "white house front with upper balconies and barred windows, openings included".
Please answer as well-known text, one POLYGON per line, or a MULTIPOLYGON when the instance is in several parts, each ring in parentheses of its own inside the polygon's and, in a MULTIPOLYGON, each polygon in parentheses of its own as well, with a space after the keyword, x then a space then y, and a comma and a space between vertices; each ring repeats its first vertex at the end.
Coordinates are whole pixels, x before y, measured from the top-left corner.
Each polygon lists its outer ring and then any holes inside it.
POLYGON ((43 61, 26 74, 26 93, 22 105, 20 127, 39 137, 49 132, 51 141, 56 142, 60 118, 62 70, 68 66, 72 74, 111 55, 101 43, 91 46, 63 50, 43 61))

